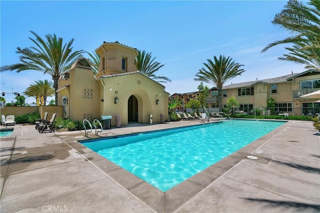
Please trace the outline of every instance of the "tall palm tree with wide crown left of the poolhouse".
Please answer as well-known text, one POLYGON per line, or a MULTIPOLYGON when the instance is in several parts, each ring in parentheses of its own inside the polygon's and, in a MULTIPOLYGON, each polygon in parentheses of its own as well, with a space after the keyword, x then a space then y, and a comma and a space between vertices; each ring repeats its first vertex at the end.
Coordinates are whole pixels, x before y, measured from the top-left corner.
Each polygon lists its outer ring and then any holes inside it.
POLYGON ((82 57, 83 50, 72 52, 73 38, 66 44, 62 43, 62 38, 57 37, 55 34, 46 34, 46 40, 43 40, 35 32, 30 31, 34 38, 29 39, 35 44, 31 47, 25 47, 21 49, 17 47, 16 53, 21 54, 19 56, 20 63, 1 66, 0 71, 12 71, 16 72, 24 70, 35 70, 43 73, 47 73, 52 76, 53 88, 55 90, 55 105, 57 105, 57 87, 58 79, 62 73, 70 69, 70 66, 75 60, 82 57))

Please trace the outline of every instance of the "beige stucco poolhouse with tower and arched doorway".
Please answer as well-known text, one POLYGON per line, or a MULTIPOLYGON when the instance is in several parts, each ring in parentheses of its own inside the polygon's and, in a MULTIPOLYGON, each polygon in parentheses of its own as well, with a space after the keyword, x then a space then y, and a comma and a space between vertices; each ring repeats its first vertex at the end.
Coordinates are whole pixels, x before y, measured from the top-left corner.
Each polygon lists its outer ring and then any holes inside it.
POLYGON ((58 81, 63 117, 82 121, 111 115, 111 125, 115 125, 115 115, 120 115, 121 125, 148 123, 150 114, 152 122, 160 122, 160 114, 167 120, 169 94, 162 84, 136 69, 135 48, 104 41, 95 51, 100 55, 97 74, 81 58, 58 81))

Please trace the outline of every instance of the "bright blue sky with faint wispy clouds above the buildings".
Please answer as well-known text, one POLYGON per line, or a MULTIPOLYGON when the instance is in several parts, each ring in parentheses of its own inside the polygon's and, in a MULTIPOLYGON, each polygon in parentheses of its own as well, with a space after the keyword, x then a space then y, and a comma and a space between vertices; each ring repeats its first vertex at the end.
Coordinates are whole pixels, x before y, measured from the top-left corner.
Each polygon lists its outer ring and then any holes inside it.
MULTIPOLYGON (((74 38, 73 50, 91 52, 103 41, 118 41, 152 52, 164 64, 157 75, 172 80, 162 83, 171 94, 196 91, 200 82, 193 80, 194 75, 214 55, 230 56, 244 65, 246 71, 227 84, 302 72, 303 65, 277 59, 286 53, 284 46, 260 53, 268 43, 288 36, 271 23, 286 2, 1 0, 0 64, 19 62, 16 47, 33 46, 28 38, 33 37, 32 30, 42 38, 55 33, 64 43, 74 38)), ((51 79, 33 70, 0 75, 1 92, 13 88, 22 93, 35 80, 51 79)), ((14 95, 6 94, 5 99, 11 102, 14 95)))

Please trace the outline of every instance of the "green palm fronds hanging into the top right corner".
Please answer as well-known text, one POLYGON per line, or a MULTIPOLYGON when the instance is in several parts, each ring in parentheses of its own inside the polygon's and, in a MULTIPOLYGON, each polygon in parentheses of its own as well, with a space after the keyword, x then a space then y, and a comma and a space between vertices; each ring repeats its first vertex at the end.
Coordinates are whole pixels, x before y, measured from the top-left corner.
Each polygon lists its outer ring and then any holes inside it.
POLYGON ((297 0, 287 2, 271 22, 292 35, 268 44, 261 52, 278 44, 291 43, 292 47, 285 48, 289 53, 278 59, 305 64, 305 68, 320 69, 320 1, 310 0, 307 4, 297 0))

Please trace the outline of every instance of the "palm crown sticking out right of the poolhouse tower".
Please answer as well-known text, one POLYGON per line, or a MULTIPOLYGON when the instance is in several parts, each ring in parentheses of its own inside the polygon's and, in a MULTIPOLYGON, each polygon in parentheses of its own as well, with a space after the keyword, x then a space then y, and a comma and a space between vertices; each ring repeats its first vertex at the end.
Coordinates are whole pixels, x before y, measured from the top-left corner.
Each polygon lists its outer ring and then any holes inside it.
POLYGON ((168 77, 165 76, 157 76, 154 74, 154 72, 158 71, 159 68, 164 66, 164 64, 160 65, 159 62, 154 61, 155 57, 151 59, 151 53, 145 52, 145 50, 137 50, 138 55, 134 58, 134 64, 136 68, 146 76, 158 80, 158 82, 166 82, 171 80, 168 77))

